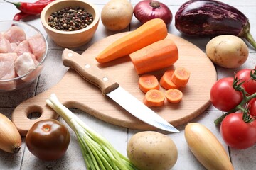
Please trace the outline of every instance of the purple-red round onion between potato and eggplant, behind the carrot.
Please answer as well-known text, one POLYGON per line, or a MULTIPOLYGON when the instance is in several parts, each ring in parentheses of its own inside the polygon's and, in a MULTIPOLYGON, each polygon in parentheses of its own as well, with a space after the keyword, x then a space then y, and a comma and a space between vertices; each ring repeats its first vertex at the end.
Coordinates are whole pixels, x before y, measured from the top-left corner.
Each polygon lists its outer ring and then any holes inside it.
POLYGON ((146 23, 154 18, 161 18, 169 26, 172 20, 171 10, 159 1, 140 1, 134 6, 134 16, 141 22, 146 23))

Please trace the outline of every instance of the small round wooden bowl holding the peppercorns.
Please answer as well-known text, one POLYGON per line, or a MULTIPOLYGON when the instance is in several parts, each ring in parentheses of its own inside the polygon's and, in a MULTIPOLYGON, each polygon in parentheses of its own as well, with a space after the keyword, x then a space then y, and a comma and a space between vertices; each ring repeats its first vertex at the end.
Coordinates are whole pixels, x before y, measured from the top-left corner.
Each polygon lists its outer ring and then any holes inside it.
POLYGON ((97 30, 100 20, 100 12, 90 2, 86 0, 58 0, 48 4, 41 12, 41 23, 46 30, 48 36, 57 44, 62 47, 79 47, 85 45, 92 39, 92 36, 97 30), (48 25, 49 16, 62 8, 77 7, 85 8, 85 10, 92 14, 93 21, 86 28, 74 31, 56 30, 48 25))

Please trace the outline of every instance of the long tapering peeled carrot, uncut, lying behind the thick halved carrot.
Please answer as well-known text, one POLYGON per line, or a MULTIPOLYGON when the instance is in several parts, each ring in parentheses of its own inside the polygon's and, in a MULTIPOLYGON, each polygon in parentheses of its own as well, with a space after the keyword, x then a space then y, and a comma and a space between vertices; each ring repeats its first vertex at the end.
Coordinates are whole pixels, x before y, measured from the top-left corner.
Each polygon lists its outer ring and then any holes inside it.
POLYGON ((104 63, 124 57, 153 42, 163 40, 168 34, 166 25, 159 18, 151 19, 136 30, 124 35, 97 55, 97 62, 104 63))

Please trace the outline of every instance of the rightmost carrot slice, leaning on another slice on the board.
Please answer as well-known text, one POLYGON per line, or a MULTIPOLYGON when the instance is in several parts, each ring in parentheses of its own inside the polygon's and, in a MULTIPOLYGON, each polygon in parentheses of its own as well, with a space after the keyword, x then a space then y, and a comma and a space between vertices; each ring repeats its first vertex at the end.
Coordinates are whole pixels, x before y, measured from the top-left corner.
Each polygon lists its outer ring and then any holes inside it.
POLYGON ((184 67, 179 67, 174 70, 174 74, 172 74, 171 81, 176 84, 176 86, 184 87, 188 83, 188 79, 190 77, 190 72, 188 69, 184 67))

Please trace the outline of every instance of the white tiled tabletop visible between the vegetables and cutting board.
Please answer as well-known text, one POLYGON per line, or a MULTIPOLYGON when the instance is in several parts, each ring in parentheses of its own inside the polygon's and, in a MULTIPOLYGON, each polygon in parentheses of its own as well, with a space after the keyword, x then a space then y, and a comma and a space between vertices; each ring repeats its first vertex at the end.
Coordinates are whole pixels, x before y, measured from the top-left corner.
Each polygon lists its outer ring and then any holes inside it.
MULTIPOLYGON (((16 0, 14 0, 16 1, 16 0)), ((28 1, 28 0, 23 0, 28 1)), ((91 0, 92 1, 92 0, 91 0)), ((31 1, 32 2, 32 1, 31 1)), ((139 2, 139 0, 131 0, 133 6, 139 2)), ((164 4, 167 4, 171 9, 173 15, 175 15, 176 11, 178 10, 179 6, 185 2, 185 0, 177 0, 177 1, 167 1, 161 0, 164 4)), ((251 33, 256 38, 256 1, 254 0, 225 0, 227 4, 235 6, 238 8, 242 13, 245 13, 245 16, 250 19, 251 24, 251 33)), ((99 1, 92 1, 99 10, 102 9, 104 4, 107 3, 107 0, 99 0, 99 1)), ((18 13, 18 10, 11 4, 7 4, 4 1, 0 0, 0 20, 11 20, 14 17, 14 14, 18 13)), ((46 32, 43 30, 41 26, 41 22, 39 18, 35 18, 31 21, 26 21, 31 23, 33 26, 36 26, 39 30, 46 35, 46 32)), ((134 30, 137 28, 139 22, 135 17, 132 18, 132 22, 130 25, 130 30, 134 30)), ((123 30, 127 31, 129 28, 123 30)), ((174 20, 169 26, 169 33, 174 35, 182 36, 178 30, 174 27, 174 20)), ((94 38, 85 46, 79 47, 75 49, 77 52, 84 52, 87 47, 90 47, 94 42, 100 40, 102 38, 107 37, 108 35, 112 35, 114 32, 105 30, 104 26, 100 22, 99 27, 97 28, 97 32, 95 33, 94 38)), ((201 50, 205 51, 206 43, 210 38, 188 38, 182 36, 184 39, 192 42, 193 44, 197 45, 201 48, 201 50)), ((19 103, 25 101, 32 96, 35 96, 50 87, 54 86, 55 84, 63 78, 63 75, 67 71, 67 68, 63 66, 61 62, 61 54, 63 51, 62 47, 58 47, 55 45, 54 42, 48 38, 48 46, 49 52, 48 57, 46 60, 45 68, 41 73, 38 81, 34 82, 33 84, 27 86, 25 89, 21 89, 19 91, 14 91, 10 93, 0 94, 0 113, 4 113, 9 118, 11 118, 11 113, 14 111, 14 108, 18 106, 19 103)), ((256 65, 256 51, 250 48, 250 57, 245 64, 242 65, 239 69, 242 68, 253 68, 256 65)), ((218 72, 218 78, 221 77, 228 77, 233 76, 233 72, 237 72, 239 69, 223 69, 220 67, 216 67, 218 72)), ((98 120, 87 113, 83 113, 82 111, 78 111, 73 109, 73 112, 77 114, 82 120, 87 123, 92 129, 96 132, 99 132, 101 135, 107 138, 112 145, 122 154, 126 155, 126 147, 127 141, 129 138, 134 135, 134 133, 139 132, 139 130, 130 130, 127 128, 121 128, 116 125, 111 125, 109 123, 105 123, 102 120, 98 120)), ((245 150, 235 150, 228 148, 222 138, 220 137, 220 131, 218 127, 215 127, 213 124, 213 120, 218 118, 222 113, 215 109, 213 106, 210 106, 204 113, 202 113, 197 118, 191 120, 191 122, 201 123, 206 125, 223 143, 225 149, 230 155, 230 159, 233 162, 233 166, 235 169, 256 169, 256 145, 251 147, 250 149, 245 150)), ((61 122, 63 120, 60 119, 61 122)), ((64 122, 63 122, 64 123, 64 122)), ((179 134, 168 134, 176 143, 178 147, 178 161, 176 162, 173 169, 190 169, 190 170, 198 170, 204 169, 201 164, 198 163, 196 158, 188 149, 188 145, 186 144, 186 140, 183 135, 185 125, 181 125, 178 127, 178 130, 181 131, 179 134)), ((69 129, 70 130, 70 129, 69 129)), ((159 130, 159 132, 162 132, 159 130)), ((43 162, 40 159, 31 154, 26 148, 26 144, 24 142, 23 137, 23 144, 21 147, 21 151, 17 154, 9 154, 3 151, 0 151, 0 169, 85 169, 85 163, 82 159, 82 153, 80 151, 80 147, 78 145, 78 141, 76 140, 75 134, 70 130, 71 134, 71 141, 70 146, 68 147, 68 151, 66 152, 65 156, 61 159, 58 159, 54 162, 43 162)), ((0 139, 1 140, 1 139, 0 139)), ((157 169, 156 169, 157 170, 157 169)))

